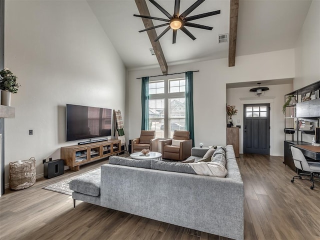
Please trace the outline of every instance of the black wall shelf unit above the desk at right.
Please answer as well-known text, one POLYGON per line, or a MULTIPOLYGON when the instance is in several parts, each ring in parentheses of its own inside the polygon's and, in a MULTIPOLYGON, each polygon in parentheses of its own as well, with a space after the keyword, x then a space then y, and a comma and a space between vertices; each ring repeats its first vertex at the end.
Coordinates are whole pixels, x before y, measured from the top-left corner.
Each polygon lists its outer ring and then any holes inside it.
POLYGON ((309 139, 306 135, 314 135, 315 127, 319 127, 320 119, 320 81, 309 84, 305 87, 292 91, 284 95, 286 102, 289 96, 294 96, 285 106, 284 112, 284 161, 285 165, 296 170, 292 154, 291 145, 311 145, 303 138, 309 139))

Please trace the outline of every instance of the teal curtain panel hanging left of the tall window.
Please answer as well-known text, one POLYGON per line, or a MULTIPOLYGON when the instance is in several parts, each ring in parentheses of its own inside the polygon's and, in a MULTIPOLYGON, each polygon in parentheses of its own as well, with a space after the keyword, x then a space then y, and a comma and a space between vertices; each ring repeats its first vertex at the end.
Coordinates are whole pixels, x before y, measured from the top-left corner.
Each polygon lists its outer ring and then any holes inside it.
POLYGON ((149 77, 143 76, 141 81, 141 130, 149 127, 149 77))

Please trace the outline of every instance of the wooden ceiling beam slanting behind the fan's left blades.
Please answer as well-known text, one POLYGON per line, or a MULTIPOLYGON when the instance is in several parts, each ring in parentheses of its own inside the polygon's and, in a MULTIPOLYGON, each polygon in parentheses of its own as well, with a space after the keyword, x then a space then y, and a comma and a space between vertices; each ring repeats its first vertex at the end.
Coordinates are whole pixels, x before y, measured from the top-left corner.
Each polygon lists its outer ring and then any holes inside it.
MULTIPOLYGON (((136 4, 136 6, 137 6, 137 8, 139 10, 140 15, 145 15, 145 16, 149 16, 150 15, 150 12, 149 12, 149 9, 148 9, 148 7, 146 5, 145 0, 134 0, 134 1, 135 1, 135 4, 136 4)), ((142 19, 142 22, 143 22, 145 28, 153 26, 153 22, 152 22, 151 19, 142 18, 142 17, 141 17, 141 19, 142 19)), ((160 65, 162 74, 167 74, 168 66, 166 64, 166 60, 164 58, 164 54, 163 54, 160 42, 159 41, 154 41, 154 39, 157 38, 157 34, 156 34, 155 29, 151 29, 151 30, 148 30, 146 32, 148 34, 150 43, 151 43, 152 48, 154 50, 156 59, 158 60, 158 63, 160 65)))

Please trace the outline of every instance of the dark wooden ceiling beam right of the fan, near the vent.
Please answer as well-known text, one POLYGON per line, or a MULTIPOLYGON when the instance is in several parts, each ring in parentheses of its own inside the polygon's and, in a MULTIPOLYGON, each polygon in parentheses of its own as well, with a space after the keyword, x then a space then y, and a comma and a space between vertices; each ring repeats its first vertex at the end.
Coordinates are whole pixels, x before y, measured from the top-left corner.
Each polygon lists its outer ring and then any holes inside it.
POLYGON ((229 66, 235 65, 236 30, 238 24, 239 0, 230 0, 230 25, 229 25, 229 66))

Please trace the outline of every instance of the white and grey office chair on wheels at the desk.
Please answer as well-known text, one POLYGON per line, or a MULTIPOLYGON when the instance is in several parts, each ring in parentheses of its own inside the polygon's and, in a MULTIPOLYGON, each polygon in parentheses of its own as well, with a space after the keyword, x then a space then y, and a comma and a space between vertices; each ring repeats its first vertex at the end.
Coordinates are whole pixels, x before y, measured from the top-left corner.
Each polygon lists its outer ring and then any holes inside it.
POLYGON ((294 146, 291 146, 290 148, 291 148, 294 166, 299 170, 301 170, 301 172, 298 173, 298 175, 293 176, 293 178, 291 179, 291 182, 294 181, 295 177, 302 179, 302 176, 309 176, 310 181, 312 181, 312 186, 310 186, 310 188, 313 189, 314 173, 320 173, 320 162, 306 161, 302 151, 299 148, 296 148, 294 146))

